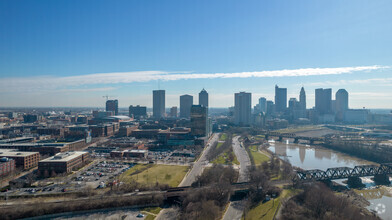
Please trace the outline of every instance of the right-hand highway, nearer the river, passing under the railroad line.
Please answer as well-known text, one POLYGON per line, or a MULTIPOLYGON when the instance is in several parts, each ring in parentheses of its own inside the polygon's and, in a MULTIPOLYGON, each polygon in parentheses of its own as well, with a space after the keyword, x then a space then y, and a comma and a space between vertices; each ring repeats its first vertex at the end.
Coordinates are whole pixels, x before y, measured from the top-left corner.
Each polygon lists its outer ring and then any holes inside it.
MULTIPOLYGON (((249 181, 249 166, 251 165, 249 155, 246 152, 245 148, 242 147, 242 144, 238 140, 240 136, 235 136, 233 138, 233 151, 237 160, 240 162, 240 170, 239 177, 237 182, 246 182, 249 181)), ((246 200, 234 201, 230 202, 229 208, 227 208, 223 220, 234 220, 241 219, 242 213, 245 209, 246 200)))

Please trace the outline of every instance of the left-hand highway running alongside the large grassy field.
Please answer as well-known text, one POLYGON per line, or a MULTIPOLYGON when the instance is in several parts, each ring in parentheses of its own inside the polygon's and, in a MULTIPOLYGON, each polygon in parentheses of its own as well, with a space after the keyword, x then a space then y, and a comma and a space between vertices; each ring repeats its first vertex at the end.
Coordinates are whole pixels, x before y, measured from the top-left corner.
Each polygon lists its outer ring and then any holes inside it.
POLYGON ((210 151, 211 146, 214 145, 214 143, 218 140, 219 133, 214 133, 206 144, 206 147, 204 148, 199 160, 194 162, 192 169, 187 173, 182 182, 179 184, 180 187, 190 186, 196 180, 196 177, 202 174, 204 167, 207 166, 209 162, 207 160, 207 154, 210 151))

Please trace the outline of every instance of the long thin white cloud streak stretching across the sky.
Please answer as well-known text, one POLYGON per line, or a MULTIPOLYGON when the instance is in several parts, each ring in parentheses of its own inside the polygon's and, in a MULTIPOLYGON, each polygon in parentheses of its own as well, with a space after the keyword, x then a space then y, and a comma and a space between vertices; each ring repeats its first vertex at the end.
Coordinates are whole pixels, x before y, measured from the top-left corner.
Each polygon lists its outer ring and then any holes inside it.
POLYGON ((148 82, 152 80, 185 80, 185 79, 216 79, 216 78, 251 78, 251 77, 293 77, 337 75, 361 71, 372 71, 389 68, 388 66, 357 66, 338 68, 302 68, 272 71, 238 72, 238 73, 189 73, 166 71, 139 71, 118 73, 96 73, 78 76, 40 76, 23 78, 2 78, 0 92, 34 92, 57 90, 88 85, 107 85, 133 82, 148 82))

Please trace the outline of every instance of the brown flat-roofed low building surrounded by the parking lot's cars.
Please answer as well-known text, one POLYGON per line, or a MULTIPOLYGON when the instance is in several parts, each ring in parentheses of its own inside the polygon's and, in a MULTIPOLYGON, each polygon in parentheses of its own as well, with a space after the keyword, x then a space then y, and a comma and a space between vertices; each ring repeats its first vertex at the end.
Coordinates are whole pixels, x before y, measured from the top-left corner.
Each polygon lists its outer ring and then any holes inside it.
POLYGON ((38 163, 38 173, 44 176, 70 173, 73 169, 84 166, 88 160, 89 154, 83 151, 58 153, 53 157, 40 161, 38 163))

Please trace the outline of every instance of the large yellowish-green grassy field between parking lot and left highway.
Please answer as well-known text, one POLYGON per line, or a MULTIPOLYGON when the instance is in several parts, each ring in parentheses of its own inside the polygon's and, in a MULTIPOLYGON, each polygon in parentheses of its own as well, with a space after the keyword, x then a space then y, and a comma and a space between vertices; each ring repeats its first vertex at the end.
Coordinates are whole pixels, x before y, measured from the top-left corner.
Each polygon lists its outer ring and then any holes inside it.
POLYGON ((140 184, 151 185, 159 182, 176 187, 185 174, 188 166, 160 165, 160 164, 137 164, 122 174, 126 182, 137 181, 140 184))

